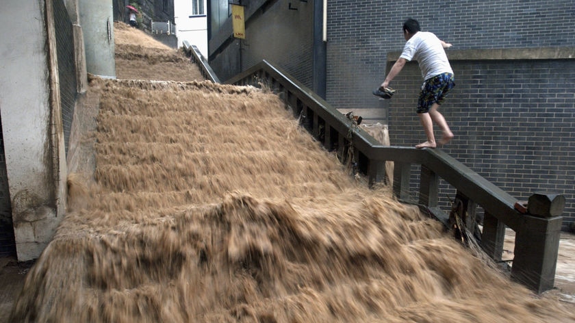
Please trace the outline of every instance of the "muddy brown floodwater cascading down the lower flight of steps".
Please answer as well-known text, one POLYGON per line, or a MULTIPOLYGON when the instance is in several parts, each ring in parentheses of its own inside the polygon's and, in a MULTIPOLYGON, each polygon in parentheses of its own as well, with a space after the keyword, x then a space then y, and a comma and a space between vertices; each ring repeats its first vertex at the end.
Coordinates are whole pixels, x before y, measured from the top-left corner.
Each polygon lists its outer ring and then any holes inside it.
POLYGON ((575 322, 350 176, 266 90, 90 91, 93 175, 69 178, 11 322, 575 322))

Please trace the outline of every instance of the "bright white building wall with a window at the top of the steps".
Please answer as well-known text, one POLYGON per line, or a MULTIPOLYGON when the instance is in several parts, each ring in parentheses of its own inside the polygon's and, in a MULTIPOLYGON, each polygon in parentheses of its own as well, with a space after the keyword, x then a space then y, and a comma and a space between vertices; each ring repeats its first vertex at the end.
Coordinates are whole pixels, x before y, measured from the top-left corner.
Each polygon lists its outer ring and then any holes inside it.
POLYGON ((184 40, 196 45, 204 57, 207 57, 207 3, 204 0, 206 14, 192 16, 192 0, 174 0, 174 19, 178 48, 184 40))

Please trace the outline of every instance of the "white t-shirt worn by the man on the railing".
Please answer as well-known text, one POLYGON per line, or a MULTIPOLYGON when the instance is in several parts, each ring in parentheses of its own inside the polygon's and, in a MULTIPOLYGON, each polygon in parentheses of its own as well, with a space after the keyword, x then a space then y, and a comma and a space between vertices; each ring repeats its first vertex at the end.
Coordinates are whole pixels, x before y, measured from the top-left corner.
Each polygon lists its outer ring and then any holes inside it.
POLYGON ((429 31, 418 31, 409 38, 400 57, 418 61, 424 80, 442 73, 453 74, 441 40, 429 31))

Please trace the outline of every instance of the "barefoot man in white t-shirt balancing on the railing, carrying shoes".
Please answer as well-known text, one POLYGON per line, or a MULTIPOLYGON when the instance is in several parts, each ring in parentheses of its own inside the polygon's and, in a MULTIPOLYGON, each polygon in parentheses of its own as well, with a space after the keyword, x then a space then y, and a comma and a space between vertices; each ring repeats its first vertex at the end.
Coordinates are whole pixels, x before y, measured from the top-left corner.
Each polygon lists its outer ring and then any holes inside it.
POLYGON ((421 31, 418 21, 411 18, 403 24, 403 36, 407 41, 403 47, 403 52, 374 94, 383 94, 383 90, 400 73, 405 63, 417 60, 424 79, 418 99, 417 113, 427 141, 417 144, 416 148, 435 148, 437 146, 433 134, 433 122, 443 131, 439 144, 447 144, 453 138, 453 133, 444 116, 437 109, 444 102, 449 90, 455 86, 453 70, 444 50, 452 45, 440 40, 431 32, 421 31))

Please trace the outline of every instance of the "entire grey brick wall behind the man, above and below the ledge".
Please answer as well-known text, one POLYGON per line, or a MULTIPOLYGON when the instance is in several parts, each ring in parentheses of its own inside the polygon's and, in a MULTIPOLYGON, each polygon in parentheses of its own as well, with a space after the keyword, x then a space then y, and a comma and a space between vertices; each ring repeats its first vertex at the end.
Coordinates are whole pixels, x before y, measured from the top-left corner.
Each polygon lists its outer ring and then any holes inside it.
MULTIPOLYGON (((385 77, 387 53, 403 49, 401 26, 416 18, 451 50, 575 47, 569 1, 328 1, 327 101, 378 107, 371 94, 385 77)), ((444 149, 489 181, 526 200, 565 194, 563 230, 575 225, 575 60, 452 61, 455 88, 442 107, 455 140, 444 149)), ((394 79, 392 144, 424 140, 415 113, 421 76, 415 63, 394 79)), ((439 134, 438 134, 439 135, 439 134)), ((413 192, 417 192, 416 178, 413 192)), ((442 206, 455 190, 442 182, 442 206)))

